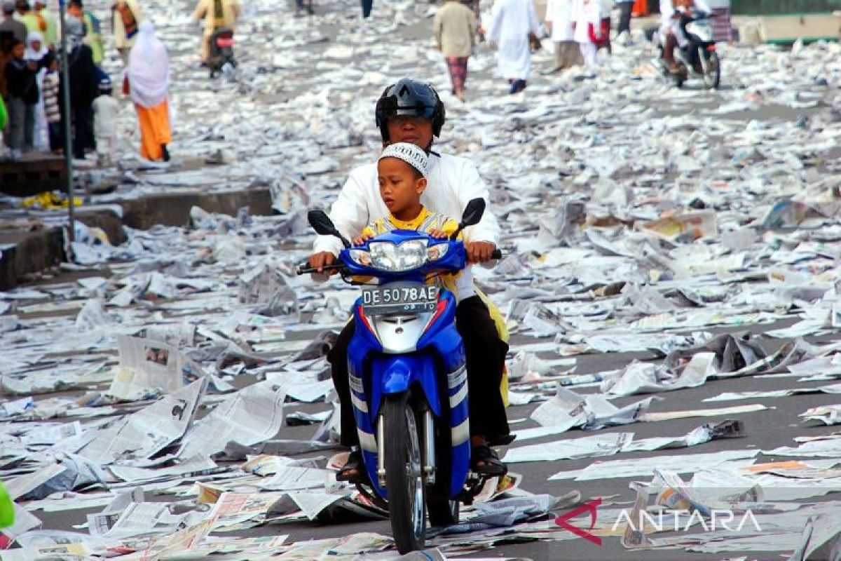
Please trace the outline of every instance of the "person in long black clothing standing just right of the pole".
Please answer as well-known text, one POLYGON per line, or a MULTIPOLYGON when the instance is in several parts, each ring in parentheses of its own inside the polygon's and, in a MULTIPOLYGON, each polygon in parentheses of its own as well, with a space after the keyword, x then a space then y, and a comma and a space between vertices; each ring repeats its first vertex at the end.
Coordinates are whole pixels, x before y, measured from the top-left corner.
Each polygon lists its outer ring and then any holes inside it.
MULTIPOLYGON (((85 145, 93 138, 90 130, 93 120, 91 104, 97 98, 97 66, 93 63, 93 50, 82 42, 85 34, 84 24, 80 19, 67 18, 67 71, 70 74, 70 109, 71 114, 62 114, 62 119, 71 119, 73 124, 73 157, 85 159, 85 145)), ((65 84, 61 83, 61 88, 65 84)), ((63 91, 63 89, 61 90, 63 91)), ((63 94, 59 94, 59 99, 63 94)))

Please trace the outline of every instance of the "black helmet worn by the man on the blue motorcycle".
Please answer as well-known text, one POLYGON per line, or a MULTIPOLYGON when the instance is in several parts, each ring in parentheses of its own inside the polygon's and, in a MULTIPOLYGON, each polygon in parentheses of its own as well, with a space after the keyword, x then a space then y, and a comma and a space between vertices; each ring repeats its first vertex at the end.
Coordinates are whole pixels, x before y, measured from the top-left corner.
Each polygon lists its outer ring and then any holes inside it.
POLYGON ((389 119, 399 115, 423 117, 432 121, 432 134, 441 135, 446 117, 444 103, 438 97, 434 87, 423 82, 402 78, 397 83, 386 87, 377 100, 374 112, 383 142, 389 140, 389 119))

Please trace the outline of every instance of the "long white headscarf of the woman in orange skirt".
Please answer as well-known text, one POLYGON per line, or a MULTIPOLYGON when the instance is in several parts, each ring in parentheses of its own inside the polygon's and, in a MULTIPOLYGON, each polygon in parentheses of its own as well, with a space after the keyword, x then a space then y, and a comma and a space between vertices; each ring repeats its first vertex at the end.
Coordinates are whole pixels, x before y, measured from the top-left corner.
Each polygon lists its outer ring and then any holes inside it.
POLYGON ((155 26, 146 19, 140 23, 135 45, 129 54, 131 101, 153 108, 167 99, 169 92, 169 56, 167 47, 155 36, 155 26))

